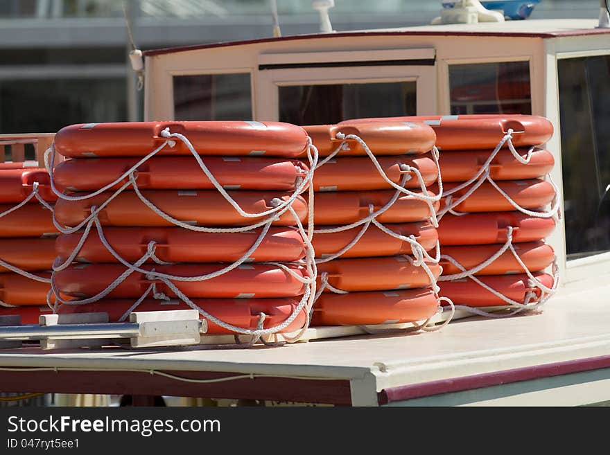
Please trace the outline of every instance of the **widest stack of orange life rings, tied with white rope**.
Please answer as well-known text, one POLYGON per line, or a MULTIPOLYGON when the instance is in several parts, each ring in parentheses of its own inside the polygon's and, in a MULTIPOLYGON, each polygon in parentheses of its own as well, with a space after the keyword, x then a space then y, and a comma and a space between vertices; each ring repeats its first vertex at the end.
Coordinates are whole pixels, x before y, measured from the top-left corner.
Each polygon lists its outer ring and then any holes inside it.
POLYGON ((64 127, 52 284, 67 298, 56 310, 123 321, 192 307, 207 334, 301 330, 315 265, 295 227, 306 222, 311 172, 295 158, 309 145, 286 123, 64 127))

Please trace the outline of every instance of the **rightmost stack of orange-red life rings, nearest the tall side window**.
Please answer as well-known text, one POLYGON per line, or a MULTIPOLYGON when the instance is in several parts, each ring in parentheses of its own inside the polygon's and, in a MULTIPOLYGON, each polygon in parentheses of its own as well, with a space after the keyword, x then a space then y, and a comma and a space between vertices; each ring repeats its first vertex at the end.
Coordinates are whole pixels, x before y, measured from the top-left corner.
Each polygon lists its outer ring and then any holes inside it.
POLYGON ((555 253, 543 242, 558 210, 548 175, 554 161, 543 148, 552 124, 500 114, 349 122, 371 121, 420 121, 436 133, 443 181, 440 295, 476 314, 489 314, 484 307, 520 312, 545 303, 558 283, 555 253), (551 265, 552 275, 544 272, 551 265))

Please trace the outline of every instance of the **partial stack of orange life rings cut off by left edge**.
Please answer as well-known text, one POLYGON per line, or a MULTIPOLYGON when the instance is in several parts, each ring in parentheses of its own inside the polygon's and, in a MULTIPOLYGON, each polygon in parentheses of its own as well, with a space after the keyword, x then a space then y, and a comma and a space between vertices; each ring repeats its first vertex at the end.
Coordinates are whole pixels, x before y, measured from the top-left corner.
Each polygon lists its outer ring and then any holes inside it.
POLYGON ((46 170, 0 163, 0 316, 18 314, 33 324, 50 312, 55 199, 46 170))

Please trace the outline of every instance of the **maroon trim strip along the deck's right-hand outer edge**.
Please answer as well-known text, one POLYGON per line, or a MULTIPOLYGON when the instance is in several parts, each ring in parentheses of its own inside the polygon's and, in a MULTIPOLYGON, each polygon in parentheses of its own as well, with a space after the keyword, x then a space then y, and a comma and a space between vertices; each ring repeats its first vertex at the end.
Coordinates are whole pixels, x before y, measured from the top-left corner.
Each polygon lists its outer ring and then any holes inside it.
POLYGON ((379 404, 388 404, 391 402, 411 400, 412 398, 439 395, 441 393, 482 389, 483 387, 531 381, 543 377, 568 375, 570 373, 583 373, 585 371, 599 370, 602 368, 610 368, 610 355, 393 387, 392 389, 384 389, 379 392, 377 394, 377 400, 379 404))

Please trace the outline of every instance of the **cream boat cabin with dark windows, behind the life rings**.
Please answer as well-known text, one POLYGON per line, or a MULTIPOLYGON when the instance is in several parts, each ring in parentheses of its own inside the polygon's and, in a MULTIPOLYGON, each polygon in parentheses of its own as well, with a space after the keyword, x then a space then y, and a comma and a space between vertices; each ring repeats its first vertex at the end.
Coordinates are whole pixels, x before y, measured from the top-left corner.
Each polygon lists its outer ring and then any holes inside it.
POLYGON ((597 25, 450 24, 148 51, 145 120, 544 116, 563 198, 547 241, 565 285, 610 272, 610 29, 597 25))

